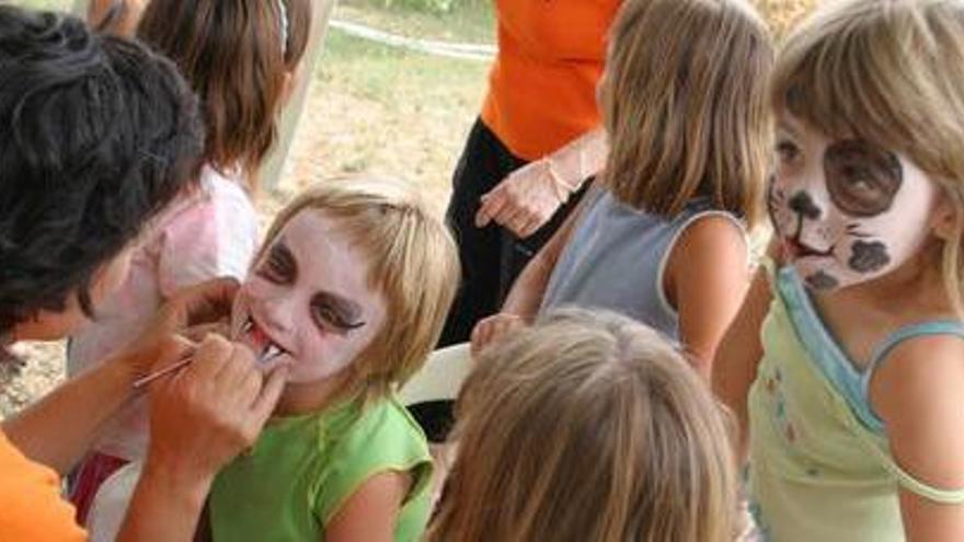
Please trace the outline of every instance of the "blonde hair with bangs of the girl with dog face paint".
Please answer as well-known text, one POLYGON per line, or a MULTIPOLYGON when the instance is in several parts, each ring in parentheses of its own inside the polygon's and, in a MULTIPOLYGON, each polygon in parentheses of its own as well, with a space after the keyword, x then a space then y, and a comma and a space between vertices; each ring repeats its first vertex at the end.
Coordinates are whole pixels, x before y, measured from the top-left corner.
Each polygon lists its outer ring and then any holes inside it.
POLYGON ((780 54, 770 101, 828 137, 907 157, 956 214, 943 276, 964 314, 964 2, 856 0, 818 9, 780 54))

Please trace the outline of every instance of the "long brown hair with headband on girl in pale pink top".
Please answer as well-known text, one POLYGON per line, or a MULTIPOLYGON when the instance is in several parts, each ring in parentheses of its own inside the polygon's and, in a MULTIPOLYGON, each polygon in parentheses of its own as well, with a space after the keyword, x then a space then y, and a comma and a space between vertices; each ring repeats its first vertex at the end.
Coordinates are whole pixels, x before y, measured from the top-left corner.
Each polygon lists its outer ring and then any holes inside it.
POLYGON ((308 46, 311 0, 151 0, 137 36, 174 60, 200 97, 215 168, 253 175, 308 46))

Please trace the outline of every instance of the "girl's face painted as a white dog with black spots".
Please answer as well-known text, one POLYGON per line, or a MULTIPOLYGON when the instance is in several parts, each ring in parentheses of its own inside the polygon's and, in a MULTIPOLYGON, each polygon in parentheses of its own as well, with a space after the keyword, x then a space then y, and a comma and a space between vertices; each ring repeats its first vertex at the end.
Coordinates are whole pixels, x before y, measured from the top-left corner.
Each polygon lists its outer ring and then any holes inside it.
POLYGON ((930 234, 937 196, 909 160, 859 139, 829 140, 781 116, 770 216, 811 288, 852 286, 906 263, 930 234))

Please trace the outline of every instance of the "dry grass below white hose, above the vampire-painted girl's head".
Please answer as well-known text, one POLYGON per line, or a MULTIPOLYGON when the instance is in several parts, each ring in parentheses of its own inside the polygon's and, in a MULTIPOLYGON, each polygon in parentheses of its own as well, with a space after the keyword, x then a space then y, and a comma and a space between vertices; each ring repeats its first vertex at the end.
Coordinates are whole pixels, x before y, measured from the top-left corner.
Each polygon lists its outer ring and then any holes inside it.
POLYGON ((479 115, 487 71, 487 62, 426 55, 329 28, 282 188, 296 192, 345 173, 387 174, 422 185, 440 211, 479 115))

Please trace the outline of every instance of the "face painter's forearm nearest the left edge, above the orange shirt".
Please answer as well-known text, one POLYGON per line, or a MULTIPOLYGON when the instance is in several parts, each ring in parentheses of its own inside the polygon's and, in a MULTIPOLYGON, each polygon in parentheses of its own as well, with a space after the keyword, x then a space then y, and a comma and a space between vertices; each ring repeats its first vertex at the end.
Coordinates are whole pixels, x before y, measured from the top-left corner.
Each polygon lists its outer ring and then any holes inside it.
POLYGON ((131 397, 133 381, 126 364, 100 365, 3 422, 3 431, 26 457, 66 474, 101 425, 131 397))

